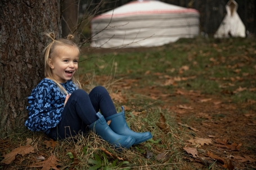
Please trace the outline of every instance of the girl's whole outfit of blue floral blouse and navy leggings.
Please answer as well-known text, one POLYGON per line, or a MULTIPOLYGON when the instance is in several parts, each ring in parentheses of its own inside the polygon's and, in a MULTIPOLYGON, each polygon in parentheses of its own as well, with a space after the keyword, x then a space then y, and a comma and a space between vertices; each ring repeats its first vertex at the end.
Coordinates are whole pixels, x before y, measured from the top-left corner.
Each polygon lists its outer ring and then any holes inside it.
POLYGON ((96 86, 89 94, 71 81, 61 84, 71 94, 65 104, 66 94, 50 79, 43 79, 28 97, 30 104, 25 126, 32 131, 44 131, 52 139, 64 139, 98 120, 96 113, 101 111, 104 117, 116 113, 113 101, 107 90, 96 86))

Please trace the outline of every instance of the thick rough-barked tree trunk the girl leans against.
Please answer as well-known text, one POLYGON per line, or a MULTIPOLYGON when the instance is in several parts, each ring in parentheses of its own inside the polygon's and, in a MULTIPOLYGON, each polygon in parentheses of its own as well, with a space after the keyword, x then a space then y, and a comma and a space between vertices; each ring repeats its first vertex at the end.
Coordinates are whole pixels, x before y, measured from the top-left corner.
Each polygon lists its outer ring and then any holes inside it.
POLYGON ((44 77, 43 32, 61 35, 59 0, 0 1, 0 135, 24 126, 27 97, 44 77))

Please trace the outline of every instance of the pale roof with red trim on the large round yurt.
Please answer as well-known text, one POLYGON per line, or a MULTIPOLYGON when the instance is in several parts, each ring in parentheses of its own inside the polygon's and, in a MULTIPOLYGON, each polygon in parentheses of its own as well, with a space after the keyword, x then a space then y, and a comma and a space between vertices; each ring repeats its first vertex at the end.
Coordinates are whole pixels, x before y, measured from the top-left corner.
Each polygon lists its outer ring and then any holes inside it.
POLYGON ((199 13, 192 8, 179 7, 173 4, 164 3, 161 1, 132 1, 123 6, 117 7, 114 10, 102 13, 93 18, 103 19, 110 17, 122 17, 133 15, 147 15, 147 14, 160 14, 160 13, 199 13))

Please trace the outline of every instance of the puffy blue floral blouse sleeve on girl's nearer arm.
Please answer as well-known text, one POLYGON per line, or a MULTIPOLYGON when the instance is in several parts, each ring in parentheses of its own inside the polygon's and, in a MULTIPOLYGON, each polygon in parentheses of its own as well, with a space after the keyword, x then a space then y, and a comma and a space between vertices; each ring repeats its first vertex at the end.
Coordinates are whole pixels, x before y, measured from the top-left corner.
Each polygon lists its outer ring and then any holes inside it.
POLYGON ((60 122, 65 98, 63 100, 61 95, 56 95, 56 90, 49 85, 41 85, 28 97, 29 117, 25 126, 30 130, 46 132, 60 122), (52 90, 55 91, 54 96, 52 90))

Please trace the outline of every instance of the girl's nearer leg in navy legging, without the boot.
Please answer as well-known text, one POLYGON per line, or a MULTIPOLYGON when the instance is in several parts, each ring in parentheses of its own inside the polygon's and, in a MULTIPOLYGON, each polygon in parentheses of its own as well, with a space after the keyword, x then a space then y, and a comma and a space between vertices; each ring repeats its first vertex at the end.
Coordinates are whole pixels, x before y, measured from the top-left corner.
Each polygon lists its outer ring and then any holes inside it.
POLYGON ((75 90, 64 107, 59 125, 51 129, 50 137, 57 140, 57 137, 65 139, 75 136, 97 120, 96 111, 86 91, 75 90))

